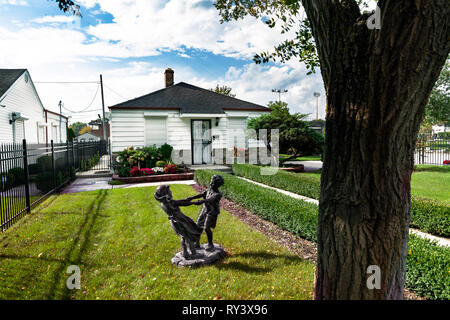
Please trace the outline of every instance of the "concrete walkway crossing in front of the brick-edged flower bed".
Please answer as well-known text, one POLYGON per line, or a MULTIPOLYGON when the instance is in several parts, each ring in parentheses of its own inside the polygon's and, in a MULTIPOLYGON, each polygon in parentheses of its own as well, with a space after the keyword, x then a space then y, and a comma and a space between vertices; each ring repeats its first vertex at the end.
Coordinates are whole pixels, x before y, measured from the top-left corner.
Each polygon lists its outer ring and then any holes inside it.
POLYGON ((120 184, 120 185, 110 185, 108 184, 111 181, 111 178, 78 178, 70 185, 68 185, 64 190, 60 193, 77 193, 84 191, 95 191, 95 190, 112 190, 112 189, 125 189, 125 188, 143 188, 150 186, 160 186, 162 184, 186 184, 192 185, 195 184, 194 180, 183 180, 183 181, 164 181, 164 182, 146 182, 146 183, 133 183, 133 184, 120 184))

